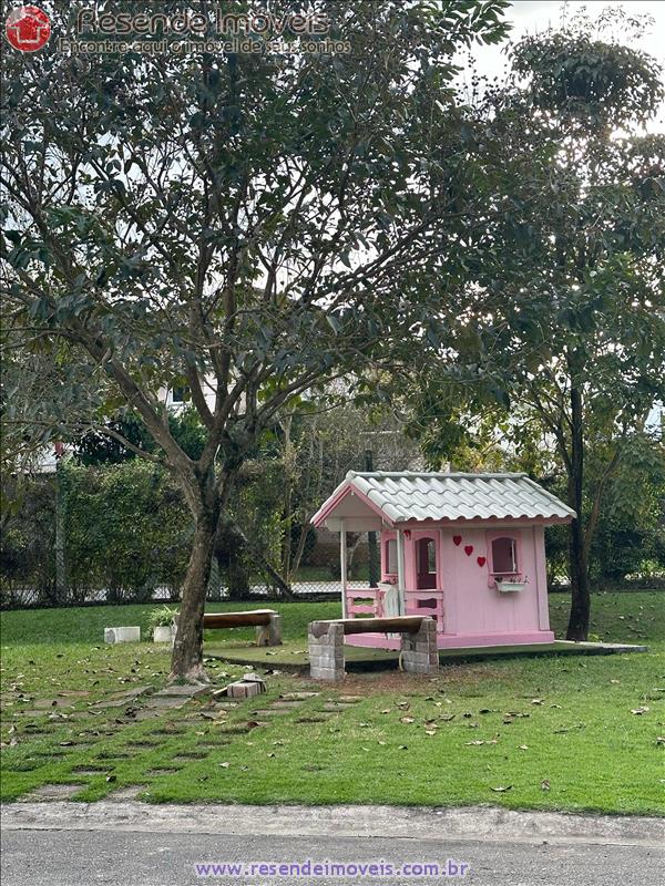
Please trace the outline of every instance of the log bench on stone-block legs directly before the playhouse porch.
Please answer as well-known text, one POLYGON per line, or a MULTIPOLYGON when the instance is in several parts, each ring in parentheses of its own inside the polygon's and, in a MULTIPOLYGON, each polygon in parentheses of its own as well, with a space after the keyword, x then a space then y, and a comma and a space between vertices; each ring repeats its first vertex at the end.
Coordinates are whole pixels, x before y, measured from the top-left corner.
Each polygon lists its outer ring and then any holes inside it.
POLYGON ((431 616, 339 618, 310 621, 309 673, 315 680, 342 680, 344 638, 350 633, 401 633, 400 660, 409 673, 437 673, 437 622, 431 616))

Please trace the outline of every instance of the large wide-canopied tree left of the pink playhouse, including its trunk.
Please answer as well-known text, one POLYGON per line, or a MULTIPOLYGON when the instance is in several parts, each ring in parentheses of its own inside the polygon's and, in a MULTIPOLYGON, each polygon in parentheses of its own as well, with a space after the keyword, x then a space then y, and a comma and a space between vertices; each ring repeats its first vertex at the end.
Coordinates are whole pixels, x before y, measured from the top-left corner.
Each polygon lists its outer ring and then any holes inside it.
MULTIPOLYGON (((65 33, 68 10, 54 6, 65 33)), ((501 40, 505 6, 315 0, 328 37, 349 41, 332 55, 8 55, 13 334, 27 352, 63 342, 72 367, 101 369, 106 416, 113 403, 135 410, 160 454, 133 451, 183 488, 195 533, 174 677, 204 676, 215 535, 257 436, 291 398, 400 357, 428 316, 427 280, 469 226, 484 226, 451 59, 501 40), (164 383, 191 390, 206 432, 197 459, 171 431, 164 383)))

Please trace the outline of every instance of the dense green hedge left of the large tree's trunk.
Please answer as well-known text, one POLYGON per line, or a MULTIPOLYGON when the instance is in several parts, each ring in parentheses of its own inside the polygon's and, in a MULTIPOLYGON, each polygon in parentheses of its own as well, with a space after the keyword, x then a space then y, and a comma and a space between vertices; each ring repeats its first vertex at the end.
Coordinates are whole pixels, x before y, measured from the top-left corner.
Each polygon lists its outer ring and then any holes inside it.
POLYGON ((150 600, 158 586, 176 598, 184 580, 192 519, 161 468, 140 461, 59 472, 65 498, 66 596, 54 578, 55 478, 22 478, 21 507, 6 518, 2 605, 66 605, 105 598, 150 600))

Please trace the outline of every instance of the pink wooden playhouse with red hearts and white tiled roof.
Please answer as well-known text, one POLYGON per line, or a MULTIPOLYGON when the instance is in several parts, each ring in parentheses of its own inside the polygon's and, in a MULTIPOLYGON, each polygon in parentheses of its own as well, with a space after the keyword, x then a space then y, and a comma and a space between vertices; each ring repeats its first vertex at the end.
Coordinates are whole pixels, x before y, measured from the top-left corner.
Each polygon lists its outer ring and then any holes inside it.
POLYGON ((349 472, 311 522, 339 533, 345 618, 431 615, 439 648, 454 648, 553 641, 544 527, 574 516, 525 474, 349 472), (379 534, 376 588, 347 581, 347 532, 379 534))

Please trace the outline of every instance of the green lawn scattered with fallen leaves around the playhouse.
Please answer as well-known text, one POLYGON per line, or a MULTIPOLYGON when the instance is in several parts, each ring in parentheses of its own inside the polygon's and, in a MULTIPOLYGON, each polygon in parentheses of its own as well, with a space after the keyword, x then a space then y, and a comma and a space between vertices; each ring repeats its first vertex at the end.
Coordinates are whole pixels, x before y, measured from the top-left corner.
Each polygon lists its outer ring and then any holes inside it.
MULTIPOLYGON (((344 687, 276 672, 259 701, 223 713, 204 698, 154 720, 139 720, 150 696, 119 693, 164 686, 167 650, 101 642, 109 625, 146 629, 151 607, 4 612, 2 799, 43 784, 82 785, 78 800, 143 785, 153 802, 491 803, 663 815, 664 600, 648 591, 593 598, 592 632, 647 642, 647 655, 507 657, 446 663, 437 678, 374 671, 344 687), (252 713, 304 689, 319 694, 278 715, 252 713), (59 694, 70 691, 88 694, 59 694), (325 710, 345 694, 360 700, 325 710), (91 707, 113 700, 121 704, 91 707), (648 710, 632 713, 641 709, 648 710), (262 718, 266 724, 254 728, 262 718)), ((287 648, 299 649, 308 621, 339 611, 334 602, 276 608, 287 648)), ((567 598, 553 596, 559 636, 566 612, 567 598)), ((218 637, 207 638, 215 651, 218 637)), ((250 637, 235 630, 228 646, 250 637)), ((265 669, 276 661, 267 658, 265 669)), ((207 667, 219 686, 244 670, 218 660, 207 667)))

